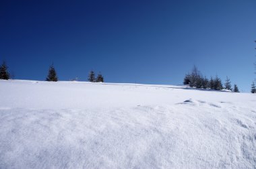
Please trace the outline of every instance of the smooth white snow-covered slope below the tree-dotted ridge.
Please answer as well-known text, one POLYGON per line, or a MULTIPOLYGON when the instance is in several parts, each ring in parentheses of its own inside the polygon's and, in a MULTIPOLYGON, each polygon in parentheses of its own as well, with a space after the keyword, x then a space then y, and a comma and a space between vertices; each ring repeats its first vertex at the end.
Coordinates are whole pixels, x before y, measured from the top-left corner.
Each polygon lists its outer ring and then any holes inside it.
POLYGON ((0 80, 0 168, 256 168, 256 95, 0 80))

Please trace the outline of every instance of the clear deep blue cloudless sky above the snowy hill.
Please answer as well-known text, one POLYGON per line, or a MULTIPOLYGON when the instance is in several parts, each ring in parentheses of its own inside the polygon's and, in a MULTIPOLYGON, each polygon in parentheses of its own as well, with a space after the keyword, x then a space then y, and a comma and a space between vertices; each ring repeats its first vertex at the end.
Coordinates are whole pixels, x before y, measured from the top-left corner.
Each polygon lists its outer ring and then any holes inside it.
POLYGON ((106 82, 181 84, 193 65, 249 91, 256 1, 0 1, 0 61, 15 78, 102 72, 106 82))

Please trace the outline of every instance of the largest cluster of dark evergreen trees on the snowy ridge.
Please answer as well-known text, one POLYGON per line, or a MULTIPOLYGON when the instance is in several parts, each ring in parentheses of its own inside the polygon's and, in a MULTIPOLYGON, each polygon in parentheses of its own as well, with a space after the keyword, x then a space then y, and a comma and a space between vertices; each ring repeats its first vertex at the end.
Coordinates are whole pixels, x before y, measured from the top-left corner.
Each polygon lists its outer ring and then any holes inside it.
MULTIPOLYGON (((193 67, 190 73, 185 74, 183 84, 187 84, 190 87, 195 87, 197 89, 213 89, 216 91, 226 89, 228 91, 232 91, 231 82, 228 77, 226 78, 226 82, 223 87, 222 80, 218 76, 215 78, 211 76, 209 80, 206 76, 201 74, 196 66, 193 67)), ((236 84, 234 84, 234 89, 234 92, 239 92, 236 84)))

